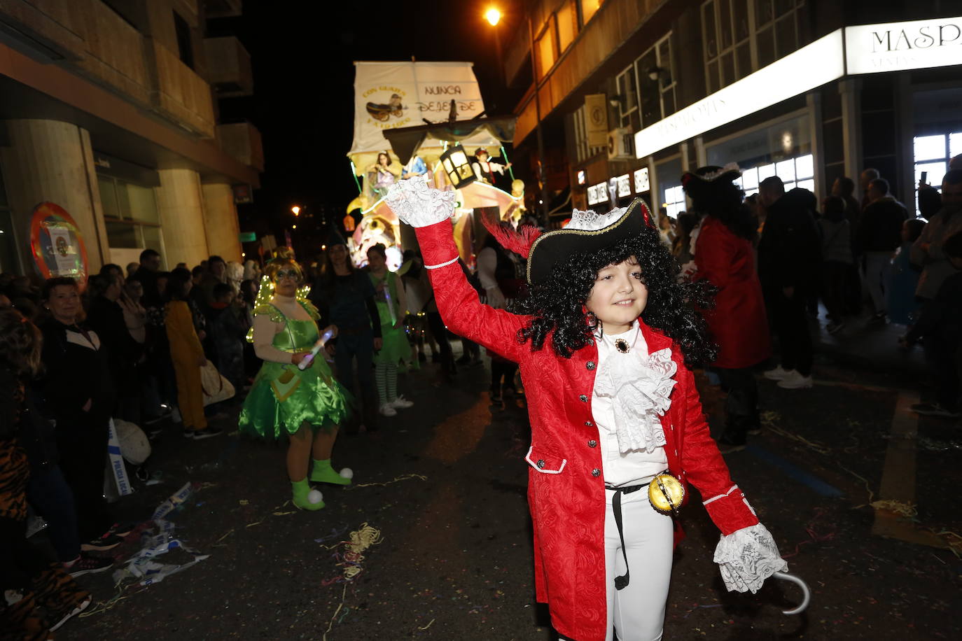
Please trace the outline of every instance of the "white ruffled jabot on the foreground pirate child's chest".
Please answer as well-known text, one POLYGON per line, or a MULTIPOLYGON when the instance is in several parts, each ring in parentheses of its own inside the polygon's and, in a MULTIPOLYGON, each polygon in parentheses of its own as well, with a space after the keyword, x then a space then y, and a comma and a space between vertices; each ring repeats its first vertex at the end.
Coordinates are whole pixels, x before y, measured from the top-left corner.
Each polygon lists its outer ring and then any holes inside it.
POLYGON ((646 357, 612 355, 595 379, 595 394, 612 399, 615 433, 622 454, 665 446, 661 417, 671 406, 671 388, 678 366, 666 348, 646 357))

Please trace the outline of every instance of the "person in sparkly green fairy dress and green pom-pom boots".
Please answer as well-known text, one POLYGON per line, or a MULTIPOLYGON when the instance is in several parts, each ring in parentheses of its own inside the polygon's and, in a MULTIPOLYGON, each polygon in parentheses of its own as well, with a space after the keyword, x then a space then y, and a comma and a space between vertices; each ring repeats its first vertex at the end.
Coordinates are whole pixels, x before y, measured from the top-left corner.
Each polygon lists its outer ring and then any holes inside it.
MULTIPOLYGON (((331 450, 338 425, 347 415, 347 401, 340 383, 320 351, 304 369, 299 364, 311 356, 319 333, 317 309, 301 287, 303 273, 291 259, 271 260, 254 306, 254 327, 249 340, 264 365, 254 379, 241 410, 240 430, 266 438, 290 437, 288 476, 293 505, 316 510, 324 503, 309 498, 308 458, 314 466, 310 481, 349 485, 350 473, 331 467, 331 450)), ((337 335, 333 325, 325 328, 337 335)))

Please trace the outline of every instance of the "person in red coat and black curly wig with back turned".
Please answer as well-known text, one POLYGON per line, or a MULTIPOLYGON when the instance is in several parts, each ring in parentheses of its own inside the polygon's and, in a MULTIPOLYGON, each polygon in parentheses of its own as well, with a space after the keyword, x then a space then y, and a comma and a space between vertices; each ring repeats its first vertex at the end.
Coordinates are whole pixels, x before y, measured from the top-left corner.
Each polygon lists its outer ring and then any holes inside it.
POLYGON ((708 329, 719 346, 712 369, 722 379, 725 428, 722 454, 745 449, 747 433, 761 429, 758 383, 752 369, 772 355, 762 285, 755 270, 755 221, 732 183, 738 165, 701 167, 681 177, 693 210, 702 216, 695 243, 693 278, 718 287, 715 308, 706 312, 708 329))

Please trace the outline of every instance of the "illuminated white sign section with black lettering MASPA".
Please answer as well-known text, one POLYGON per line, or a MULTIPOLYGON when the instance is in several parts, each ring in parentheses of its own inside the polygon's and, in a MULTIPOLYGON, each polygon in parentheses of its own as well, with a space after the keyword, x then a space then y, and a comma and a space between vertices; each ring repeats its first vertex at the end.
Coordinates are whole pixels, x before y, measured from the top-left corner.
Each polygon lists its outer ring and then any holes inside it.
POLYGON ((962 17, 846 27, 849 74, 962 64, 962 17))

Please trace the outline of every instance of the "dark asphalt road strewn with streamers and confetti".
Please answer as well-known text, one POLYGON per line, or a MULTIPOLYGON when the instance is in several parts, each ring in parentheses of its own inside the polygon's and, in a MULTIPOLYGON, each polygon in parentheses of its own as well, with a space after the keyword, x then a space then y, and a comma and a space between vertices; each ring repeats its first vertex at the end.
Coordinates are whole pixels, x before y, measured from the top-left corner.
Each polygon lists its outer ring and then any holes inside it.
MULTIPOLYGON (((824 384, 811 390, 762 382, 771 428, 728 456, 790 569, 811 585, 808 613, 780 613, 797 600, 783 583, 757 595, 725 593, 711 559, 718 531, 693 500, 683 510, 688 538, 675 554, 665 639, 962 638, 962 561, 871 534, 869 490, 878 491, 899 389, 911 377, 820 364, 824 384), (877 388, 861 386, 867 380, 877 388)), ((98 604, 58 638, 554 638, 534 601, 526 410, 519 400, 490 406, 487 378, 484 368, 453 384, 430 369, 408 375, 401 391, 416 406, 375 434, 342 435, 334 464, 351 467, 356 486, 324 489, 327 507, 315 513, 287 503, 283 447, 237 434, 186 441, 167 427, 151 460, 163 482, 140 485, 117 508, 143 520, 194 483, 171 520, 185 544, 210 557, 120 599, 109 574, 80 578, 98 604), (329 546, 364 524, 380 530, 381 542, 364 552, 361 574, 344 581, 329 546)), ((703 389, 714 426, 719 392, 703 389)), ((934 421, 919 430, 946 449, 920 449, 917 525, 960 531, 951 489, 962 484, 952 446, 959 428, 934 421)), ((116 556, 136 552, 137 538, 116 556)))

